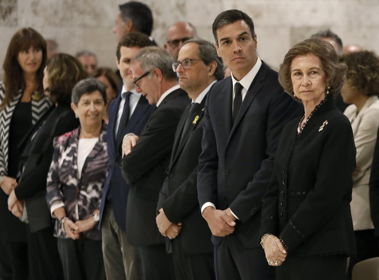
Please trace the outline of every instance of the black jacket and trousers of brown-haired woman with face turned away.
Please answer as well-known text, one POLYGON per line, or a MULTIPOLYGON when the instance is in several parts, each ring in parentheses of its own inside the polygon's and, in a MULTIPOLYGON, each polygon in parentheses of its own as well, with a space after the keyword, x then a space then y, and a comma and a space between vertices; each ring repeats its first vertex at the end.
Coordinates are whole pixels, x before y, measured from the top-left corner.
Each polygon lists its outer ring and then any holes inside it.
POLYGON ((46 202, 46 181, 53 156, 53 138, 79 126, 69 105, 52 106, 20 144, 23 170, 15 188, 28 214, 31 279, 63 279, 53 224, 46 202))

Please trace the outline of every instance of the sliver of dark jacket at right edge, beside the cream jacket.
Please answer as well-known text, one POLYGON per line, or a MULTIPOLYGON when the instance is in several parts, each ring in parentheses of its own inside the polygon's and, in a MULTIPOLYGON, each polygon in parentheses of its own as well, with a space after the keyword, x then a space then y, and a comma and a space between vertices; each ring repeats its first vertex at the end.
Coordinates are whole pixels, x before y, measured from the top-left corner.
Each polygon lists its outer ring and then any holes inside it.
MULTIPOLYGON (((379 136, 379 130, 377 135, 379 136)), ((375 236, 379 236, 379 138, 376 138, 369 187, 371 220, 374 224, 375 236)))

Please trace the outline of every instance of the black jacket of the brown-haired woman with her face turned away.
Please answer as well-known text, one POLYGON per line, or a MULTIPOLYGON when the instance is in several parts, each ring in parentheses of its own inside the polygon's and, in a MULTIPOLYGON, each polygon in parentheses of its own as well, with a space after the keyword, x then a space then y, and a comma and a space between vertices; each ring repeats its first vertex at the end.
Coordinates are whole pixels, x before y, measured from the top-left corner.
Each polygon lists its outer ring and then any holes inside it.
POLYGON ((78 126, 79 121, 69 105, 52 106, 20 144, 23 151, 20 170, 23 171, 14 192, 17 199, 25 200, 32 233, 52 226, 46 202, 46 182, 54 151, 53 138, 78 126))

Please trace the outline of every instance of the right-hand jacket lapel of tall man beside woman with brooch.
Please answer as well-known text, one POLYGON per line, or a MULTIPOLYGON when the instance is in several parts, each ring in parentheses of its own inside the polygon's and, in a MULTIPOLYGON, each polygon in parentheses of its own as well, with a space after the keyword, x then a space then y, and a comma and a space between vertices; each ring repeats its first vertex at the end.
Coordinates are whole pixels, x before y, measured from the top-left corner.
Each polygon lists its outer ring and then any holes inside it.
POLYGON ((265 63, 262 61, 262 66, 260 67, 257 75, 255 76, 254 80, 252 81, 249 90, 246 92, 245 98, 243 99, 240 111, 238 112, 238 115, 236 117, 236 120, 233 124, 232 131, 230 131, 228 142, 230 141, 230 138, 233 135, 233 132, 235 131, 236 127, 240 123, 243 115, 246 113, 247 109, 249 108, 251 102, 254 100, 255 96, 258 94, 260 89, 262 88, 262 83, 266 77, 268 67, 265 63))

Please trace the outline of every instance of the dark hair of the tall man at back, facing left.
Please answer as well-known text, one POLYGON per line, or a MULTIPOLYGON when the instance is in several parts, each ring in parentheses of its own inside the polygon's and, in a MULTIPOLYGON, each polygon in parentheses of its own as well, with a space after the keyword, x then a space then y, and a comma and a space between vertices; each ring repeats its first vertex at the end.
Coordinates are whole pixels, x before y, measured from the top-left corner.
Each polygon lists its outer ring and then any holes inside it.
POLYGON ((130 1, 119 5, 119 8, 124 22, 132 20, 136 30, 147 36, 151 35, 151 31, 153 30, 153 14, 147 5, 141 2, 130 1))

